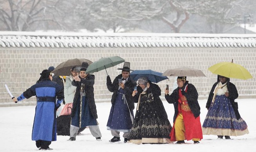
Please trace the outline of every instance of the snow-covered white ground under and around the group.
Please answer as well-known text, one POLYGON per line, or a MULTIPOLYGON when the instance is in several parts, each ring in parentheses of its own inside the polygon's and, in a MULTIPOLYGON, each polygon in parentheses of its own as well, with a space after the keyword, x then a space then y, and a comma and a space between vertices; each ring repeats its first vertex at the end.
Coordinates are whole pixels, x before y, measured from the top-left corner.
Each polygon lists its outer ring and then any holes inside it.
MULTIPOLYGON (((76 137, 76 141, 67 141, 69 136, 57 136, 50 148, 59 152, 256 152, 256 99, 237 99, 241 117, 248 125, 249 134, 231 136, 232 140, 217 140, 217 136, 203 135, 200 144, 142 144, 110 143, 112 138, 106 124, 111 103, 96 103, 98 122, 102 132, 102 141, 96 141, 89 129, 76 137)), ((25 102, 22 101, 22 102, 25 102)), ((163 101, 169 121, 172 124, 174 109, 172 104, 163 101)), ((203 124, 207 110, 206 100, 199 101, 201 107, 201 124, 203 124)), ((136 107, 136 104, 135 104, 136 107)), ((0 151, 1 152, 33 152, 37 150, 35 141, 31 140, 35 106, 0 107, 0 151)), ((135 111, 134 111, 135 112, 135 111)))

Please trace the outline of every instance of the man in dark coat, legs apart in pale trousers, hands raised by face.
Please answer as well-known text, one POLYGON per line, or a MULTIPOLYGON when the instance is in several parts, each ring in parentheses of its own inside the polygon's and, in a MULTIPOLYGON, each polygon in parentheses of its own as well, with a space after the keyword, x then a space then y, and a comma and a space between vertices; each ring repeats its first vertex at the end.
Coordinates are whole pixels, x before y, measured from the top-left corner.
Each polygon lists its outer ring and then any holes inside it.
POLYGON ((101 141, 102 134, 97 122, 97 110, 94 101, 93 74, 86 74, 87 62, 83 62, 80 75, 74 76, 72 85, 76 86, 76 93, 71 111, 70 141, 76 140, 76 134, 80 128, 89 126, 91 134, 97 141, 101 141))

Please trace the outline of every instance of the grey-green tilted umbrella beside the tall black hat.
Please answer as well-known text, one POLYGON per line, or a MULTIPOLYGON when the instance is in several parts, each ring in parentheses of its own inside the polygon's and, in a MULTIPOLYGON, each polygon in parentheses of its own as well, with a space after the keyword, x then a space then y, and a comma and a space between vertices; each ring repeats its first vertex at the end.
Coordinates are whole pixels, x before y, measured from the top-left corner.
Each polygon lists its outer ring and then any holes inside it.
POLYGON ((100 60, 95 61, 88 66, 88 68, 86 69, 86 73, 98 72, 104 69, 106 70, 107 68, 113 67, 122 62, 125 62, 125 60, 118 56, 100 58, 100 60))

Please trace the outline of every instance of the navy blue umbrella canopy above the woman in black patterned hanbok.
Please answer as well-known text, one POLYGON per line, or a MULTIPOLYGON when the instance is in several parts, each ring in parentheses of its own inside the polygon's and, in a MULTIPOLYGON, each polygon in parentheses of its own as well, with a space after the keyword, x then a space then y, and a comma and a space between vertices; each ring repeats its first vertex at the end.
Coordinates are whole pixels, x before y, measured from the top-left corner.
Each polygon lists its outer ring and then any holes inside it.
POLYGON ((141 77, 147 78, 151 82, 158 83, 160 81, 168 79, 167 76, 162 76, 163 73, 153 70, 134 70, 130 73, 132 80, 137 81, 141 77))

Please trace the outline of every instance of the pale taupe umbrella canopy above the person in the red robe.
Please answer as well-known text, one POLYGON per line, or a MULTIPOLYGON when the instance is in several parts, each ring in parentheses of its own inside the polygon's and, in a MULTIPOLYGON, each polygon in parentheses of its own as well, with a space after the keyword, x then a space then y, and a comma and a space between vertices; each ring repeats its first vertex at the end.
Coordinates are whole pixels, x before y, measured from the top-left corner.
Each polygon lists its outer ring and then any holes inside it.
POLYGON ((205 76, 201 70, 189 67, 179 67, 176 69, 168 69, 163 72, 163 76, 205 76))

